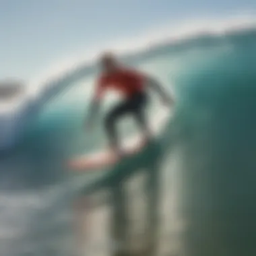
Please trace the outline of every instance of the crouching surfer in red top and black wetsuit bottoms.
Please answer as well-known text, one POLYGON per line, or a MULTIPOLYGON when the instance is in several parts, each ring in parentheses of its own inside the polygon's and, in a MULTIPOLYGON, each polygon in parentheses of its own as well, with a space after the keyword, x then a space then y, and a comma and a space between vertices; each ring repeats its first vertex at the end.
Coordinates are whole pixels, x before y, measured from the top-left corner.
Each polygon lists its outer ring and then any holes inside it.
POLYGON ((113 89, 120 92, 124 96, 121 103, 114 106, 104 119, 104 127, 110 148, 123 156, 120 141, 117 136, 117 121, 125 115, 133 115, 135 121, 143 132, 145 141, 149 141, 152 137, 150 127, 146 120, 145 110, 148 103, 148 88, 152 88, 162 98, 162 102, 166 106, 171 106, 173 98, 164 90, 164 88, 156 81, 156 79, 146 75, 141 71, 125 67, 119 63, 115 55, 112 53, 104 53, 100 57, 101 73, 97 79, 96 90, 92 98, 89 108, 89 117, 86 120, 86 126, 92 128, 93 119, 98 113, 100 102, 107 89, 113 89))

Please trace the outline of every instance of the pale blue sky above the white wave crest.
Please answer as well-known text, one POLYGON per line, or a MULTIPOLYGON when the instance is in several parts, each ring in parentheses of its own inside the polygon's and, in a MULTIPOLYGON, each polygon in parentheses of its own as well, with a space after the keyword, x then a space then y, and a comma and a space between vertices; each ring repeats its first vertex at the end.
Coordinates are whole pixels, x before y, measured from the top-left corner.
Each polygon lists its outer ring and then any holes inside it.
POLYGON ((0 0, 0 79, 28 79, 65 56, 152 26, 254 7, 255 0, 0 0))

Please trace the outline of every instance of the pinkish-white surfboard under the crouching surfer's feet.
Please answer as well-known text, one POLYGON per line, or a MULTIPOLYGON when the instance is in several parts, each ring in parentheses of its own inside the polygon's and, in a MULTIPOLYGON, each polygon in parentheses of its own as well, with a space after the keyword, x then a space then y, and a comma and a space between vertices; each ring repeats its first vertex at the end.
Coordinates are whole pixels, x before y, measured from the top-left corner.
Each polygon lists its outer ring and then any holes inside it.
MULTIPOLYGON (((165 108, 161 111, 156 111, 155 115, 153 115, 152 121, 150 121, 150 128, 155 138, 160 135, 166 122, 169 120, 169 117, 170 109, 165 108)), ((127 158, 140 152, 146 146, 146 141, 143 140, 140 134, 136 134, 124 139, 122 146, 125 158, 127 158)), ((91 154, 71 158, 68 162, 68 166, 72 170, 77 171, 102 170, 103 168, 108 168, 117 164, 120 160, 122 160, 122 158, 117 156, 113 150, 104 148, 103 150, 91 154)))

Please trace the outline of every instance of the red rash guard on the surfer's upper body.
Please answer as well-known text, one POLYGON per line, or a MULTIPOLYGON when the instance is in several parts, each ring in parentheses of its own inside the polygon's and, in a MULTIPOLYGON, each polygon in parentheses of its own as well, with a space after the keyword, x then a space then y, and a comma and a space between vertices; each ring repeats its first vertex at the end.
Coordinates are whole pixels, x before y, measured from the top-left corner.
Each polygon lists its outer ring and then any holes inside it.
POLYGON ((131 98, 137 92, 143 92, 145 75, 131 69, 120 69, 110 74, 103 74, 98 79, 96 98, 102 98, 106 89, 121 92, 125 98, 131 98))

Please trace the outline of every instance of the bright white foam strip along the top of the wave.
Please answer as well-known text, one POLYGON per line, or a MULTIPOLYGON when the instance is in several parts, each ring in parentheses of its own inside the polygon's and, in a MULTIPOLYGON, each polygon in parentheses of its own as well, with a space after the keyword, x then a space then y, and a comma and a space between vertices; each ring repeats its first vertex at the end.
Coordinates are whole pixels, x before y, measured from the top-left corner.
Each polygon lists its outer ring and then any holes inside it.
POLYGON ((241 32, 256 28, 254 13, 235 15, 222 19, 185 20, 176 24, 159 26, 143 32, 135 38, 117 38, 114 41, 105 42, 97 49, 88 49, 79 56, 67 57, 43 73, 34 77, 29 83, 30 92, 40 92, 44 86, 63 79, 71 73, 86 68, 92 68, 97 60, 98 53, 108 50, 117 55, 133 56, 145 51, 152 51, 162 44, 186 42, 191 38, 200 38, 204 35, 224 36, 226 34, 241 32))

